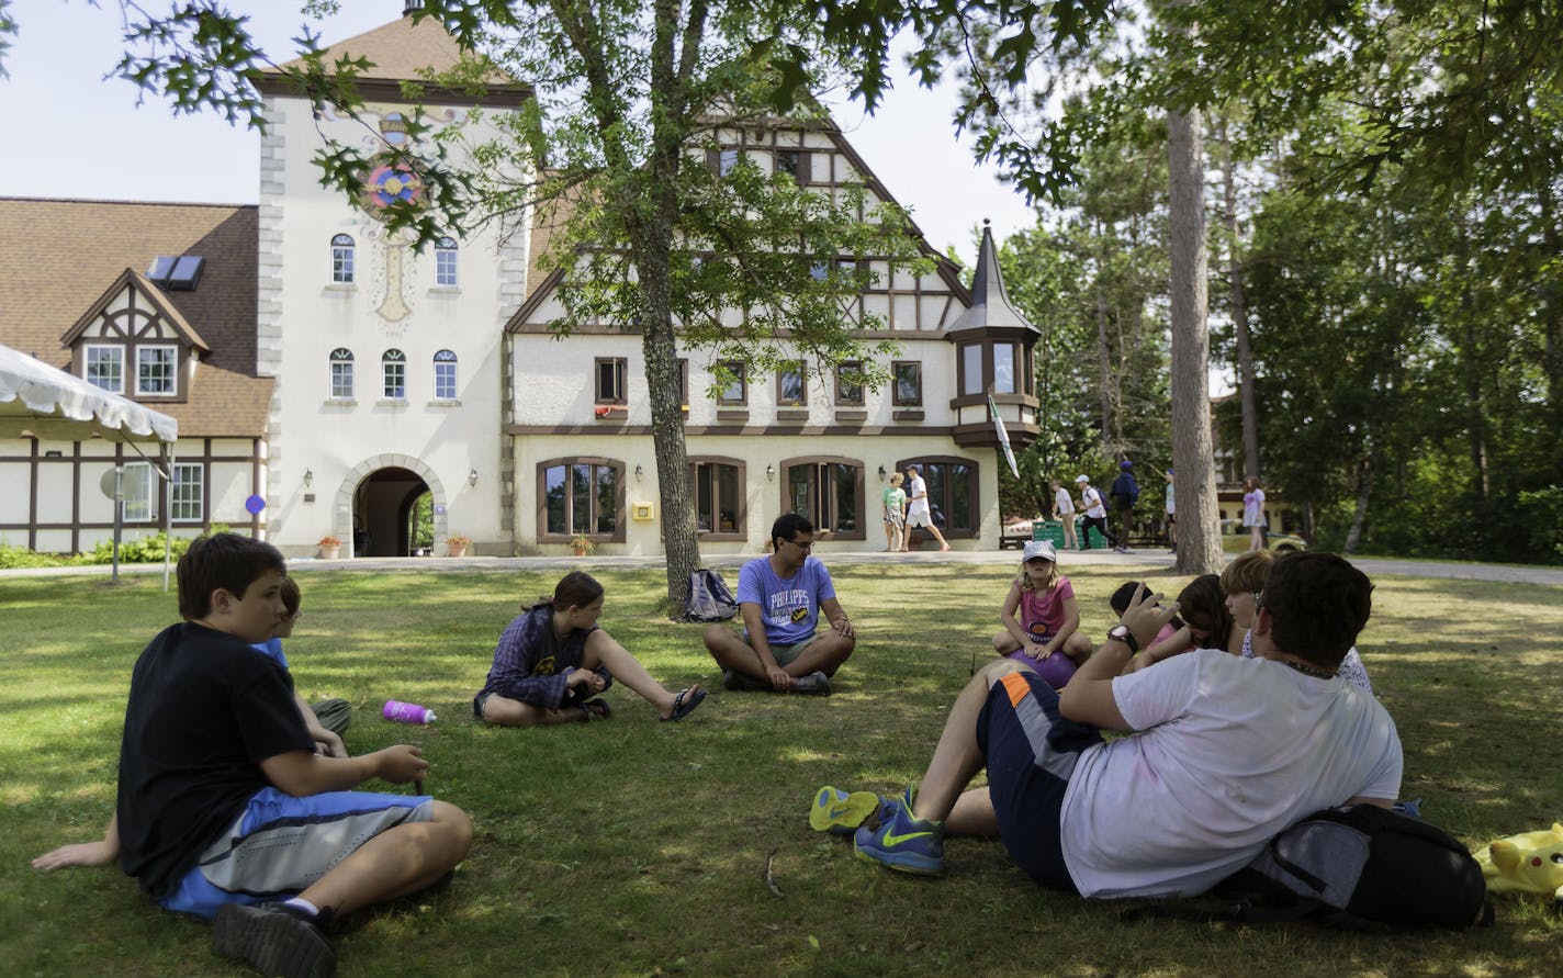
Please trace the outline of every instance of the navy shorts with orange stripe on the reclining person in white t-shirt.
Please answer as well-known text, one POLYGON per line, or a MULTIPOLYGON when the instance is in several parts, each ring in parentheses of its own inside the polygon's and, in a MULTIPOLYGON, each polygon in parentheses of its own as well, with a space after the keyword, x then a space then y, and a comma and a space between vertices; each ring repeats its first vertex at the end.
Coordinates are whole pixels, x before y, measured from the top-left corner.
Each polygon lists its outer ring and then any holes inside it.
POLYGON ((1060 812, 1080 753, 1102 733, 1058 716, 1058 694, 1035 672, 1010 672, 977 714, 988 758, 988 797, 1010 858, 1053 889, 1078 892, 1064 866, 1060 812))

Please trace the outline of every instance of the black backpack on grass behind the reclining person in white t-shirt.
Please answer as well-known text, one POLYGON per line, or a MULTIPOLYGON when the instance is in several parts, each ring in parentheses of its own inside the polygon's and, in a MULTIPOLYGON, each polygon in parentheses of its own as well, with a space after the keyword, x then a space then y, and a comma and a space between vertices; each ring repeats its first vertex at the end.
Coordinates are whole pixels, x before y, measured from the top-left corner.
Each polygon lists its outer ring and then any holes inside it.
POLYGON ((1139 917, 1310 920, 1346 930, 1493 923, 1482 869, 1465 845, 1377 805, 1313 812, 1216 884, 1221 911, 1147 908, 1139 917))

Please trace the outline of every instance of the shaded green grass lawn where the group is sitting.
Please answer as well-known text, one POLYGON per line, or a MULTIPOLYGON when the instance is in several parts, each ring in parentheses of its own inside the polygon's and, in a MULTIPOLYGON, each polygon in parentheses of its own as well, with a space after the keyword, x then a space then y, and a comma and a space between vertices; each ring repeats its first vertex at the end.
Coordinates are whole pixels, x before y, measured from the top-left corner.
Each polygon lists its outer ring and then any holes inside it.
MULTIPOLYGON (((614 686, 610 722, 542 730, 485 728, 469 703, 500 630, 558 572, 300 573, 300 692, 355 705, 355 753, 420 744, 427 791, 477 823, 447 892, 356 917, 341 973, 1563 973, 1563 917, 1540 901, 1504 900, 1497 926, 1461 934, 1122 923, 1124 905, 1038 889, 997 842, 950 841, 949 875, 928 881, 810 831, 821 784, 900 791, 921 775, 972 650, 989 655, 1011 573, 1008 559, 838 569, 858 651, 836 695, 807 698, 722 692, 702 626, 658 617, 663 570, 605 572, 608 631, 666 686, 714 691, 658 723, 614 686), (388 698, 439 720, 388 723, 388 698)), ((1121 581, 1071 580, 1099 637, 1121 581)), ((1183 578, 1153 583, 1175 594, 1183 578)), ((5 578, 0 609, 0 972, 247 973, 117 869, 27 864, 102 833, 130 670, 173 597, 156 576, 5 578)), ((1563 819, 1563 589, 1383 576, 1360 645, 1425 817, 1471 845, 1563 819)))

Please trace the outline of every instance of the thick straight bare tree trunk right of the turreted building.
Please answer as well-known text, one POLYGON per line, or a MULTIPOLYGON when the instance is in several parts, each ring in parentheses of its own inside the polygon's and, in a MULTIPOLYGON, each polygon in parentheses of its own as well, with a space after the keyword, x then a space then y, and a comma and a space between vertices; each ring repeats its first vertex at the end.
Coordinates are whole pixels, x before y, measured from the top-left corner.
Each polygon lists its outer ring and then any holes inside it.
POLYGON ((1221 570, 1221 523, 1210 437, 1208 258, 1199 111, 1168 112, 1171 214, 1172 464, 1177 467, 1177 569, 1221 570))

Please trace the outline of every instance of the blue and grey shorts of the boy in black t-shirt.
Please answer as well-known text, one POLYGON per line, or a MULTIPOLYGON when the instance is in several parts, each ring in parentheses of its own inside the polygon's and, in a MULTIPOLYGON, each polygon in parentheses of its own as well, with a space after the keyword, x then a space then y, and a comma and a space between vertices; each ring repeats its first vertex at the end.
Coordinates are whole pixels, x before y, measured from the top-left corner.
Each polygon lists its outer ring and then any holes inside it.
POLYGON ((263 787, 161 903, 216 917, 224 903, 289 900, 388 828, 431 819, 428 795, 334 791, 295 798, 263 787))

